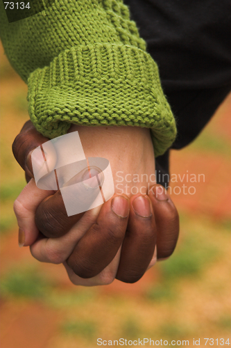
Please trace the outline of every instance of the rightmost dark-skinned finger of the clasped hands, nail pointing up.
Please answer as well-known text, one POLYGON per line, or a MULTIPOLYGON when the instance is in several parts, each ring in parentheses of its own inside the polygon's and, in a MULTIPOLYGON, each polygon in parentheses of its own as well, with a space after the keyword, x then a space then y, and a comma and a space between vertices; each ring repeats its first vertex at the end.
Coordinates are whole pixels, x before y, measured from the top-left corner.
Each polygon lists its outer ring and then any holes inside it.
POLYGON ((160 184, 149 191, 157 226, 157 259, 169 258, 176 248, 179 235, 179 216, 169 193, 160 184))

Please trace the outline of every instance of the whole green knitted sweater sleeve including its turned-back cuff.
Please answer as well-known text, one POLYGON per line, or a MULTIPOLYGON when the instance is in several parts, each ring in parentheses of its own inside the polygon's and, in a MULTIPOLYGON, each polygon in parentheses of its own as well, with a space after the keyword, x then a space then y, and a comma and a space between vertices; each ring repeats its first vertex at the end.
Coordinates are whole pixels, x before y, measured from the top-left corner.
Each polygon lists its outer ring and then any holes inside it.
POLYGON ((151 128, 155 156, 176 137, 158 69, 121 0, 55 0, 8 23, 0 1, 1 40, 28 84, 28 112, 50 139, 71 123, 151 128))

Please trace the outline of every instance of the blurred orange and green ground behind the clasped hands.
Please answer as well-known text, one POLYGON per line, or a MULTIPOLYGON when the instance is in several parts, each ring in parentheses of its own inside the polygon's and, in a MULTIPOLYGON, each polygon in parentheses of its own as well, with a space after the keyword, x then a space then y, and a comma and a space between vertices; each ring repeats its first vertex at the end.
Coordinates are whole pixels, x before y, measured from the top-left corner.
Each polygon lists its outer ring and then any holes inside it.
POLYGON ((97 338, 189 340, 190 345, 200 338, 200 347, 203 338, 227 340, 231 95, 194 143, 171 153, 171 173, 185 174, 180 185, 171 184, 172 191, 182 184, 196 189, 171 195, 181 224, 173 256, 132 285, 115 280, 76 287, 62 265, 42 264, 17 244, 12 205, 26 182, 11 145, 28 120, 27 86, 2 47, 0 58, 1 348, 97 347, 97 338), (191 184, 187 174, 203 174, 205 180, 191 184))

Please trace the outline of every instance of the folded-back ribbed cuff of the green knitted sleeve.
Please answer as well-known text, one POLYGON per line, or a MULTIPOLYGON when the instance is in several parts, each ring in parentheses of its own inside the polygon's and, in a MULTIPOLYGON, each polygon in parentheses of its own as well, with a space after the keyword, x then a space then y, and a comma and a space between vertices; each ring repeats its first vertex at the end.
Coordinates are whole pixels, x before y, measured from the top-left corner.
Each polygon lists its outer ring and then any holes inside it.
POLYGON ((52 139, 71 123, 151 128, 155 156, 176 137, 157 65, 128 45, 80 45, 61 52, 28 79, 28 111, 36 129, 52 139))

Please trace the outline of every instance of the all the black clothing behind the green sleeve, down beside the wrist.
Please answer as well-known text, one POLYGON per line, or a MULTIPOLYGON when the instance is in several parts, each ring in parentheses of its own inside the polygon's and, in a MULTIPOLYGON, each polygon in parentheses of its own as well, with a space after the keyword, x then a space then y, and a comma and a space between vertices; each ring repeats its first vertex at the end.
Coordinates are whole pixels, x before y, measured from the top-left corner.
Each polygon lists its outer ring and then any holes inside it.
MULTIPOLYGON (((183 148, 231 90, 231 1, 123 1, 157 62, 176 117, 178 136, 172 148, 183 148)), ((169 153, 156 158, 156 167, 168 173, 169 153)))

